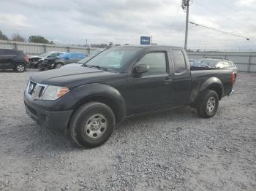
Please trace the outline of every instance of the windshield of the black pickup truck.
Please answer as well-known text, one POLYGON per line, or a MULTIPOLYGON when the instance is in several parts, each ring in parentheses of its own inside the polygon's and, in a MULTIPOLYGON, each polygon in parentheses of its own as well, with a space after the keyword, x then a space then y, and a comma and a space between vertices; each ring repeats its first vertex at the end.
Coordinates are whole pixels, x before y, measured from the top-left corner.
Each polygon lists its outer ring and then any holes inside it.
POLYGON ((110 71, 121 71, 135 56, 140 47, 113 47, 91 58, 86 66, 108 69, 110 71))

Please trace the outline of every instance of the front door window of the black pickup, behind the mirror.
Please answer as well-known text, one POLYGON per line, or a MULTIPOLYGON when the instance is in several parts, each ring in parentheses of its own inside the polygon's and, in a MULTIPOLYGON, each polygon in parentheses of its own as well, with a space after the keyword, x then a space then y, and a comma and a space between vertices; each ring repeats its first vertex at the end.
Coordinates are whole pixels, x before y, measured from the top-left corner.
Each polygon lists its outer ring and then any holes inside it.
POLYGON ((146 75, 166 74, 165 52, 151 52, 143 56, 138 64, 146 64, 149 70, 146 75))

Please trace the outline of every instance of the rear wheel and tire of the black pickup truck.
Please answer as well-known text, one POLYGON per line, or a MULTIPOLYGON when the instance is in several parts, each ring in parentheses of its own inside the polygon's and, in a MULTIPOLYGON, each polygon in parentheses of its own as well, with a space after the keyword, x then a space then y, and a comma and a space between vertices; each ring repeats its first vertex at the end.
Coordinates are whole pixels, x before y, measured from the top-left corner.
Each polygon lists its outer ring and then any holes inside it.
POLYGON ((197 114, 203 118, 210 118, 216 114, 219 106, 219 97, 214 90, 206 90, 197 106, 197 114))

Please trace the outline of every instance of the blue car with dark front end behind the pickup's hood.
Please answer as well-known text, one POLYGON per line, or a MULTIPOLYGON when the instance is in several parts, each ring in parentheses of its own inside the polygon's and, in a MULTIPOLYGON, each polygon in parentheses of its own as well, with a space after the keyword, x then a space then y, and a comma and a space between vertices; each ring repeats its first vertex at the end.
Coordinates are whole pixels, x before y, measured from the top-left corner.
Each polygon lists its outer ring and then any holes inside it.
POLYGON ((61 66, 64 66, 69 63, 76 63, 83 58, 86 58, 88 55, 81 52, 69 52, 62 55, 59 55, 54 59, 45 59, 44 62, 40 65, 40 69, 59 69, 61 66))

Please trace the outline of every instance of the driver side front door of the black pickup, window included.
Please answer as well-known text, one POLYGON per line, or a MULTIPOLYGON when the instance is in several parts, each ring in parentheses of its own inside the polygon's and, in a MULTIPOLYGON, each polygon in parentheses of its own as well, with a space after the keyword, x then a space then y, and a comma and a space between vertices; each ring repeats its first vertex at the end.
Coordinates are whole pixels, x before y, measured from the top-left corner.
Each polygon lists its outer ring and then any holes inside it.
POLYGON ((170 108, 173 83, 169 72, 167 50, 148 51, 134 66, 148 65, 146 73, 132 74, 127 82, 125 99, 127 115, 153 112, 170 108))

